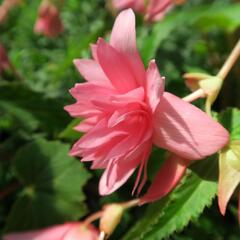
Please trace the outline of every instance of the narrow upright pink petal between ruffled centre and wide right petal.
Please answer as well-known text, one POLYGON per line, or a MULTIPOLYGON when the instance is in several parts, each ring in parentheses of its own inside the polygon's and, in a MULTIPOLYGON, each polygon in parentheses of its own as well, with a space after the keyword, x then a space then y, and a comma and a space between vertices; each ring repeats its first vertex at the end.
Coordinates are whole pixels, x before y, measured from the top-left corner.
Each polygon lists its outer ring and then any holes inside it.
POLYGON ((152 108, 152 112, 160 102, 164 91, 164 78, 161 77, 155 60, 152 60, 147 69, 146 95, 147 102, 152 108))

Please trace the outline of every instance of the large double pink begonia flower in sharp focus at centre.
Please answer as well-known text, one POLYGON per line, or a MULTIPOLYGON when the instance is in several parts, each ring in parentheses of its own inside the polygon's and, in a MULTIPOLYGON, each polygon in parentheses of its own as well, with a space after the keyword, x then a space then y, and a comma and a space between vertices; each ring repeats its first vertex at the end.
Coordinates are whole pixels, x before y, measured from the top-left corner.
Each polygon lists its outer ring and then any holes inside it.
MULTIPOLYGON (((219 123, 164 92, 164 78, 154 60, 145 71, 136 46, 132 10, 119 14, 110 43, 99 39, 92 45, 92 54, 93 59, 74 60, 87 83, 78 83, 70 90, 76 103, 65 110, 72 117, 85 119, 75 129, 86 134, 70 154, 82 157, 83 162, 92 161, 93 169, 105 169, 99 184, 101 195, 114 192, 137 168, 134 190, 140 192, 153 144, 178 158, 198 160, 228 142, 229 134, 219 123)), ((180 177, 180 171, 175 170, 180 162, 167 161, 164 174, 180 177)), ((161 184, 164 188, 169 183, 171 189, 173 182, 177 181, 161 184)))

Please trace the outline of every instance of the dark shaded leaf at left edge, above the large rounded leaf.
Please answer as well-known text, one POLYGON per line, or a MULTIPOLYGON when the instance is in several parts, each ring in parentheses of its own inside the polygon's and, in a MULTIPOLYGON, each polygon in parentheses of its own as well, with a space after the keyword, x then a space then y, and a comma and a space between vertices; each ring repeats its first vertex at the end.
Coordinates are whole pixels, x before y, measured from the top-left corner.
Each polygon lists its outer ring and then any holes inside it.
POLYGON ((50 99, 18 83, 0 85, 0 110, 26 130, 38 128, 48 132, 63 129, 68 115, 63 110, 62 99, 50 99))

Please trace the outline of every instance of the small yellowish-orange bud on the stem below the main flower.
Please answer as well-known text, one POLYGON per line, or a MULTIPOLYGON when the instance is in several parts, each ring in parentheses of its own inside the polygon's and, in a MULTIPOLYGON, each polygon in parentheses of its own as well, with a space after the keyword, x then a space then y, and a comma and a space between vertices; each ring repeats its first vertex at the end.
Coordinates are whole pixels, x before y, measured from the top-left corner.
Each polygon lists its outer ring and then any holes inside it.
POLYGON ((120 204, 106 205, 100 219, 100 231, 110 236, 121 221, 124 207, 120 204))

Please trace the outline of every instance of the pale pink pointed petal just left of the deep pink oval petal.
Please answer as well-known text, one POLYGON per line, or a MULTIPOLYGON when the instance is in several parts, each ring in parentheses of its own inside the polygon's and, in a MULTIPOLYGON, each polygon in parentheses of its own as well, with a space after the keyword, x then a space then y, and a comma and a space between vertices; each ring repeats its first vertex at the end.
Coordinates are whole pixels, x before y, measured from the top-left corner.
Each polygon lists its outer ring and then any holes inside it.
POLYGON ((88 82, 111 87, 111 83, 96 61, 91 59, 75 59, 73 62, 78 71, 88 82))

